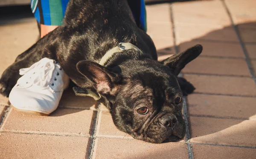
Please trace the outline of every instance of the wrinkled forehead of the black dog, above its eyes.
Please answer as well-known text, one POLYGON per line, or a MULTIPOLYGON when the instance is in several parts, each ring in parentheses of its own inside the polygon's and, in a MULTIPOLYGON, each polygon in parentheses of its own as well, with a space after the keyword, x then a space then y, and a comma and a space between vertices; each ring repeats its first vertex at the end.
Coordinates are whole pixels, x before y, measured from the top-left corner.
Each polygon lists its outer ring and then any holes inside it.
POLYGON ((143 73, 133 79, 125 80, 120 90, 123 98, 129 99, 130 107, 140 104, 162 105, 166 98, 180 94, 175 76, 143 73))

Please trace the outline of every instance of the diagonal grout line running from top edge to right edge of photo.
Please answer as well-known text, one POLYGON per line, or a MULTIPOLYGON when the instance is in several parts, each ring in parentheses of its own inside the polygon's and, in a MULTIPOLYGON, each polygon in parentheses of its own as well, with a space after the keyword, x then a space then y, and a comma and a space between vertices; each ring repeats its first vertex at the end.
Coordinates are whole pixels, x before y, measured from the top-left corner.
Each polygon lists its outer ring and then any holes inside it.
POLYGON ((242 50, 243 50, 243 52, 244 52, 244 56, 245 56, 245 60, 246 60, 248 69, 249 69, 249 71, 250 71, 250 74, 252 75, 252 78, 253 78, 254 83, 256 84, 256 76, 255 76, 254 71, 253 71, 253 66, 252 66, 252 64, 251 64, 251 62, 250 62, 250 57, 249 57, 249 55, 248 55, 248 53, 247 53, 247 50, 246 50, 246 48, 245 48, 245 46, 244 46, 244 43, 243 43, 243 41, 242 41, 242 39, 241 39, 241 36, 240 36, 240 34, 239 34, 239 29, 237 28, 237 25, 235 25, 235 23, 234 23, 234 20, 233 20, 233 18, 232 18, 232 15, 231 15, 231 13, 230 13, 230 10, 229 10, 228 7, 227 7, 226 1, 225 1, 225 0, 222 0, 222 4, 223 4, 224 9, 226 10, 228 16, 230 17, 230 21, 231 21, 231 23, 232 23, 233 29, 234 29, 235 32, 236 32, 236 35, 237 35, 237 38, 238 38, 238 40, 239 40, 240 46, 241 46, 241 48, 242 48, 242 50))

